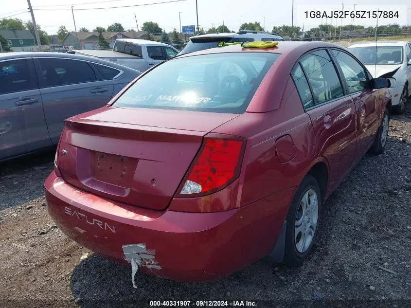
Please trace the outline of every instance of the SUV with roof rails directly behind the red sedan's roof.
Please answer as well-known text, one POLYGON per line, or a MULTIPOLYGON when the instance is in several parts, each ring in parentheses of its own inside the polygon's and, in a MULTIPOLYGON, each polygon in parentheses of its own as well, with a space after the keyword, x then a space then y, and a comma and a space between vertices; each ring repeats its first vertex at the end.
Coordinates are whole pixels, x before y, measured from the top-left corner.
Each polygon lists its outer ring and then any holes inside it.
POLYGON ((284 38, 276 33, 265 31, 250 31, 240 30, 237 33, 207 33, 190 37, 187 45, 181 54, 188 54, 195 51, 205 50, 217 47, 217 44, 221 41, 226 43, 232 42, 253 42, 253 41, 284 41, 284 38))

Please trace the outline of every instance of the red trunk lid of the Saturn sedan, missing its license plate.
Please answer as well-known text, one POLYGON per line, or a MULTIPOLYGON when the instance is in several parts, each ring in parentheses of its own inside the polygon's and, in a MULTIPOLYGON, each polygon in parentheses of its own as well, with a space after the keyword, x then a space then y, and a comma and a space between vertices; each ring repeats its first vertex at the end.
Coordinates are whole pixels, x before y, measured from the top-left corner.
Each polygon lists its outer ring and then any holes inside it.
POLYGON ((163 210, 203 136, 237 116, 104 107, 66 120, 58 167, 65 181, 92 194, 163 210))

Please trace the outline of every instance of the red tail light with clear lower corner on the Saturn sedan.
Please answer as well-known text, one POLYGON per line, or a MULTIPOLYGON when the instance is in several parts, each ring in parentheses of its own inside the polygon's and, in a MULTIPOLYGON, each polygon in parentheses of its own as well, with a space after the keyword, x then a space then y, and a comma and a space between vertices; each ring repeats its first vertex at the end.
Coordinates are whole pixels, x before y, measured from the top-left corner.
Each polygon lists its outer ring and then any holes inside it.
POLYGON ((239 137, 210 134, 179 190, 179 197, 197 197, 221 190, 240 174, 245 140, 239 137))

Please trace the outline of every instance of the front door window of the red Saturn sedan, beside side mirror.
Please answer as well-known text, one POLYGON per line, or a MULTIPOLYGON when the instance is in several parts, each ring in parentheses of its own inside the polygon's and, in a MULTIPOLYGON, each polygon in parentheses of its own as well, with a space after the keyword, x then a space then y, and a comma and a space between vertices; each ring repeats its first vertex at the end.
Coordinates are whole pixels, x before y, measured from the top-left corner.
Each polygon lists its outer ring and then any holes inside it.
POLYGON ((370 88, 370 83, 363 67, 351 55, 340 50, 332 50, 341 67, 344 79, 347 81, 348 92, 354 93, 370 88))

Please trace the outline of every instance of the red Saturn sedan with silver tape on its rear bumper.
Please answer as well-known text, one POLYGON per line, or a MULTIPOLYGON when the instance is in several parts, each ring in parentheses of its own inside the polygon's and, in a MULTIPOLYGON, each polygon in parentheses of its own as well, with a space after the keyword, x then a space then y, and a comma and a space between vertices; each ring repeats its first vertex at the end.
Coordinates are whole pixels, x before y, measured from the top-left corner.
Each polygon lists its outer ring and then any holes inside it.
POLYGON ((185 54, 65 121, 50 215, 107 258, 179 281, 300 264, 321 206, 387 143, 390 80, 324 42, 185 54))

